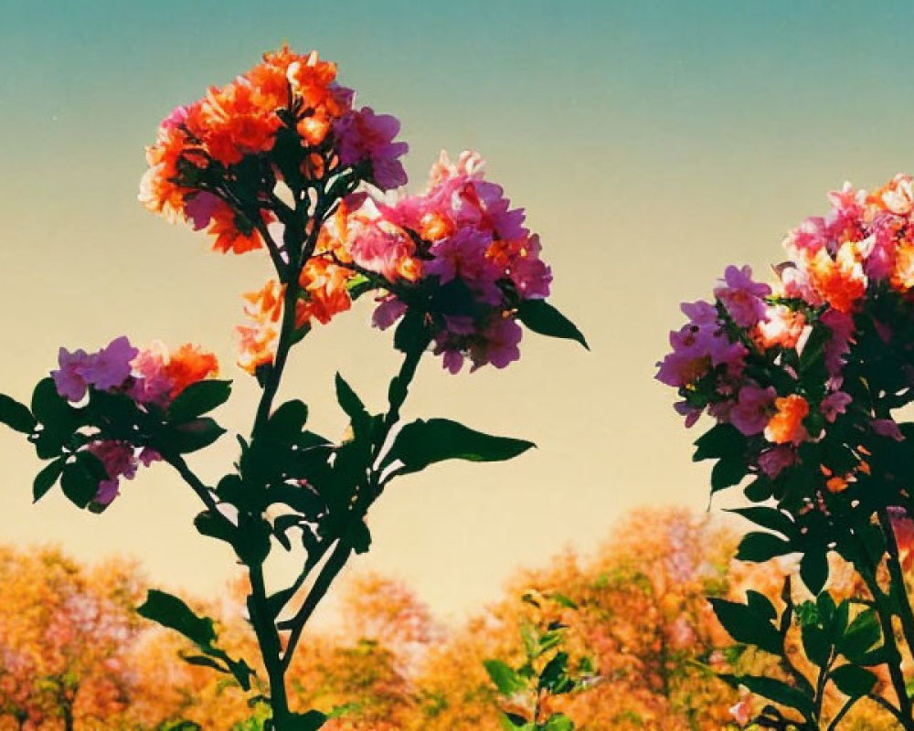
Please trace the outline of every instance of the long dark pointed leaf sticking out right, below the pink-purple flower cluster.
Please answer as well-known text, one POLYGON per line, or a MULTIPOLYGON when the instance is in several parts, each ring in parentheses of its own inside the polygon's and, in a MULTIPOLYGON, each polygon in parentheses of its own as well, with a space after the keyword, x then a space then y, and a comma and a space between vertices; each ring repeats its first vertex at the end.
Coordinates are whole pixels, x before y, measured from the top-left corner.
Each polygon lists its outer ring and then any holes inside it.
POLYGON ((446 418, 417 419, 399 430, 384 464, 403 462, 399 473, 425 469, 434 462, 505 461, 536 445, 532 441, 494 437, 446 418))

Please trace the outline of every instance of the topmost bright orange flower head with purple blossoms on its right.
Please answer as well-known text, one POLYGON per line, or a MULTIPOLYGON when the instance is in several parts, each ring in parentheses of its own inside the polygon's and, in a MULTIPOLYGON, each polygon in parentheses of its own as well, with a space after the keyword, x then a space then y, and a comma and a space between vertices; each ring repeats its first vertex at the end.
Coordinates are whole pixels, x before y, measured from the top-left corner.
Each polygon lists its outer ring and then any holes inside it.
POLYGON ((214 249, 263 246, 275 187, 301 189, 351 172, 381 190, 404 185, 399 122, 356 109, 334 63, 282 48, 221 88, 178 107, 146 150, 140 200, 169 220, 207 228, 214 249))

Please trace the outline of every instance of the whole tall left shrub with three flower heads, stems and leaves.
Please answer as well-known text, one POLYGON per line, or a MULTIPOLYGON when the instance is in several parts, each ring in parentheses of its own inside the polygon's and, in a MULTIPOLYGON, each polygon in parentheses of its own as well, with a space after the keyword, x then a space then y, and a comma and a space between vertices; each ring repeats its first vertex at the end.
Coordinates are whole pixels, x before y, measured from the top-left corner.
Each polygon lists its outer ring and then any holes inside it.
POLYGON ((73 503, 101 511, 121 478, 154 461, 197 493, 205 507, 197 530, 228 543, 248 568, 247 611, 267 677, 222 649, 213 622, 181 599, 150 591, 140 612, 193 641, 192 662, 268 698, 265 727, 279 731, 324 723, 324 714, 292 711, 285 674, 314 608, 349 557, 367 551, 366 514, 388 483, 434 462, 501 461, 533 446, 443 418, 400 426, 422 355, 441 355, 452 373, 466 358, 473 370, 503 368, 520 355, 518 323, 586 345, 546 302, 551 273, 539 240, 502 188, 484 180, 481 158, 465 153, 452 164, 442 154, 425 193, 382 196, 407 182, 407 145, 396 139, 394 117, 356 108, 355 98, 337 83, 335 64, 282 48, 178 107, 147 149, 146 207, 206 230, 218 251, 263 250, 275 270, 245 297, 239 365, 262 394, 250 435, 239 436, 235 469, 215 487, 185 455, 224 433, 207 414, 228 399, 230 384, 210 377, 215 357, 192 345, 141 351, 119 337, 93 354, 62 349, 30 407, 0 397, 0 420, 50 461, 36 478, 36 499, 59 480, 73 503), (403 365, 379 413, 337 375, 350 429, 335 443, 305 429, 302 401, 273 402, 292 346, 367 294, 377 302, 374 323, 396 323, 403 365), (268 595, 267 557, 294 544, 304 552, 300 575, 268 595))

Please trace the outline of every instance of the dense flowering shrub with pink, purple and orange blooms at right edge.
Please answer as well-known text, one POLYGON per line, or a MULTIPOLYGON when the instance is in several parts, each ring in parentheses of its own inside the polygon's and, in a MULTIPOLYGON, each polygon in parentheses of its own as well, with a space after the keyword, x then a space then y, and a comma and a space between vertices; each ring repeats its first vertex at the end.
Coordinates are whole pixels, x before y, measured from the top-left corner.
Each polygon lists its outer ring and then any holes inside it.
POLYGON ((696 460, 717 461, 712 492, 749 477, 746 497, 763 503, 736 511, 766 529, 743 539, 739 557, 801 554, 802 582, 818 597, 781 611, 757 593, 748 604, 718 600, 717 617, 735 639, 781 655, 787 667, 784 638, 801 623, 819 668, 812 682, 796 668, 790 683, 731 680, 792 709, 789 721, 771 706, 769 727, 817 728, 828 683, 849 708, 877 682, 868 668, 885 665, 892 711, 910 729, 892 621, 914 646, 896 535, 914 509, 914 425, 895 413, 914 400, 912 179, 897 175, 873 193, 845 185, 829 200, 828 215, 807 218, 785 239, 789 260, 775 268, 773 286, 731 266, 714 302, 683 305, 688 323, 670 334, 657 378, 678 389, 686 426, 705 412, 717 422, 696 441, 696 460), (860 574, 866 609, 823 593, 830 552, 860 574))

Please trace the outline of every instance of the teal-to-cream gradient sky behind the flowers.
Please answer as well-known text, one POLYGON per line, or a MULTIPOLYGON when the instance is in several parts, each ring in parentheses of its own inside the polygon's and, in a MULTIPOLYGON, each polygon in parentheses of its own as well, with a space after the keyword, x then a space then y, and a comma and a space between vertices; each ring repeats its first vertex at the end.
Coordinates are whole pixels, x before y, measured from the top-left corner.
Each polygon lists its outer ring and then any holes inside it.
MULTIPOLYGON (((413 185, 441 147, 489 161, 544 241, 552 301, 592 352, 526 338, 506 371, 420 369, 408 417, 444 416, 539 449, 394 483, 357 559, 459 617, 513 567, 590 550, 632 506, 704 510, 708 470, 654 363, 678 303, 730 263, 781 258, 784 231, 845 179, 914 165, 914 5, 883 2, 314 3, 0 0, 0 388, 27 399, 59 344, 193 340, 214 349, 246 432, 257 397, 231 365, 239 293, 266 260, 224 257, 135 199, 159 120, 288 41, 338 62, 362 103, 399 116, 413 185)), ((339 433, 339 369, 383 404, 397 358, 358 307, 294 354, 286 397, 339 433)), ((212 479, 232 441, 197 458, 212 479)), ((164 466, 103 516, 59 493, 36 506, 34 452, 0 432, 0 540, 142 559, 154 582, 218 591, 230 556, 190 527, 196 498, 164 466)))

